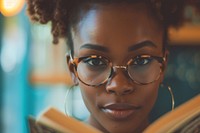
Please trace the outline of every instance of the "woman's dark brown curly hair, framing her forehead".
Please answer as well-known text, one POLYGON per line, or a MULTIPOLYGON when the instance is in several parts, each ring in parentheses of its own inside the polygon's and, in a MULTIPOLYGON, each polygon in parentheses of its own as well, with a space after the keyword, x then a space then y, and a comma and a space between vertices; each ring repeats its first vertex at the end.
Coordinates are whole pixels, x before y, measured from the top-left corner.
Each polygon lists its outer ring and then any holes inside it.
POLYGON ((146 2, 166 29, 164 40, 167 40, 169 26, 181 25, 186 4, 200 7, 200 0, 27 0, 27 11, 33 21, 41 24, 51 22, 54 44, 58 43, 59 38, 65 37, 68 40, 68 47, 73 50, 70 28, 80 19, 83 5, 120 2, 146 2))

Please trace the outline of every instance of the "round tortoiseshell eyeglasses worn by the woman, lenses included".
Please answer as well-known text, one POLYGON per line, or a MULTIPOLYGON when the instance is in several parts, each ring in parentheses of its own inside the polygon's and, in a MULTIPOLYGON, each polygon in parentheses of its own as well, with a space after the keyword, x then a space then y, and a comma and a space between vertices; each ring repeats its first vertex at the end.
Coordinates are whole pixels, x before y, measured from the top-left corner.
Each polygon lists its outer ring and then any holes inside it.
POLYGON ((113 66, 113 63, 100 55, 72 58, 78 79, 88 86, 100 86, 109 81, 116 69, 124 69, 136 84, 146 85, 159 79, 163 71, 164 57, 140 55, 131 58, 125 66, 113 66))

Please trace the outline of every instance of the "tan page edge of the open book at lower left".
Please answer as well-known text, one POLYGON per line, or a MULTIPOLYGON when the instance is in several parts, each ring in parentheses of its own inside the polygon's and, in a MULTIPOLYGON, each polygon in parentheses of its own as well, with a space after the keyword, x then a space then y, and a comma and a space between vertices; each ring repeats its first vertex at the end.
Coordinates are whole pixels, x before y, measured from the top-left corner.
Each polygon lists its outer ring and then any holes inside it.
POLYGON ((55 108, 49 108, 37 120, 37 123, 49 126, 60 132, 67 133, 101 133, 96 128, 66 116, 55 108))

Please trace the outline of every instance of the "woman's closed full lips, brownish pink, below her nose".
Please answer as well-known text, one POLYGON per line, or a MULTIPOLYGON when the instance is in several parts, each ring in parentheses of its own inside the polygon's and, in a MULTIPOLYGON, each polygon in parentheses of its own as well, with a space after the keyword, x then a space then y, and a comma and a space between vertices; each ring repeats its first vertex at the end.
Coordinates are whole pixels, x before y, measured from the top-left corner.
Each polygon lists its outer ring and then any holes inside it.
POLYGON ((128 103, 113 103, 102 107, 102 111, 114 120, 125 120, 135 114, 141 107, 128 103))

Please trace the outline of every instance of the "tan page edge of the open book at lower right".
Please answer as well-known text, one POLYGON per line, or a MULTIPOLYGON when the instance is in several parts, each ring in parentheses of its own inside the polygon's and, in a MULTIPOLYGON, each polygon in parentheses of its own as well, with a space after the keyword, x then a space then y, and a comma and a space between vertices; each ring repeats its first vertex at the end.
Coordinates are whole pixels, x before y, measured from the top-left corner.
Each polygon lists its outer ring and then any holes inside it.
POLYGON ((181 127, 182 124, 187 122, 187 120, 192 119, 195 115, 200 112, 200 95, 192 98, 188 102, 180 105, 175 110, 168 112, 154 123, 152 123, 144 133, 166 133, 169 130, 175 130, 181 127))

